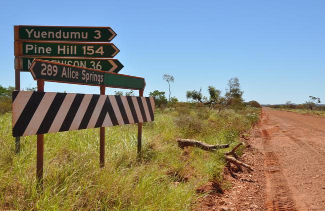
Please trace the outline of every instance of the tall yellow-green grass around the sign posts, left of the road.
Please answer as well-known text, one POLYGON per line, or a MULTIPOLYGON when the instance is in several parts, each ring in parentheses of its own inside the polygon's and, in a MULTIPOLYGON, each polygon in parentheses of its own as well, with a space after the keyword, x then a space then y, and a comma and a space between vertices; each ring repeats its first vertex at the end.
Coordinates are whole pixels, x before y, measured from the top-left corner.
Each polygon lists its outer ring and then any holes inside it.
MULTIPOLYGON (((105 167, 99 170, 99 129, 44 135, 43 192, 35 180, 36 136, 21 138, 14 153, 11 114, 0 116, 0 210, 190 210, 195 190, 222 180, 222 150, 181 150, 175 138, 210 144, 238 142, 260 110, 225 110, 176 104, 156 109, 145 123, 142 154, 136 155, 136 125, 106 128, 105 167)), ((226 151, 226 150, 223 150, 226 151)), ((224 184, 227 187, 227 184, 224 184)))

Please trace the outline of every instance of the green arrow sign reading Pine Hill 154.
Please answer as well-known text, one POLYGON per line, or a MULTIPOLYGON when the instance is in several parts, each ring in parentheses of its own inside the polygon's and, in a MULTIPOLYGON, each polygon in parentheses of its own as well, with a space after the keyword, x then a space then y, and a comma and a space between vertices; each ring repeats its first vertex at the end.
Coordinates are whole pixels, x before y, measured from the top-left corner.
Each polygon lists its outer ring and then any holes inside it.
POLYGON ((112 58, 119 52, 113 43, 21 41, 19 45, 20 56, 112 58))

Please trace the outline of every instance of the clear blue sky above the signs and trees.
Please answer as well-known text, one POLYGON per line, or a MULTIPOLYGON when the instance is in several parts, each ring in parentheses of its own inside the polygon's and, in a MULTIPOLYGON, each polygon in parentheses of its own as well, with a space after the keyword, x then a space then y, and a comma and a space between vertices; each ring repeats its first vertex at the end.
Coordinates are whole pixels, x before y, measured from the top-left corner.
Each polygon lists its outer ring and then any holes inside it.
MULTIPOLYGON (((238 77, 245 101, 325 102, 324 0, 4 0, 0 85, 14 85, 13 25, 110 26, 122 74, 144 77, 171 95, 238 77)), ((36 86, 21 73, 21 87, 36 86)), ((45 91, 99 93, 99 87, 45 82, 45 91)), ((112 88, 106 93, 113 94, 112 88)))

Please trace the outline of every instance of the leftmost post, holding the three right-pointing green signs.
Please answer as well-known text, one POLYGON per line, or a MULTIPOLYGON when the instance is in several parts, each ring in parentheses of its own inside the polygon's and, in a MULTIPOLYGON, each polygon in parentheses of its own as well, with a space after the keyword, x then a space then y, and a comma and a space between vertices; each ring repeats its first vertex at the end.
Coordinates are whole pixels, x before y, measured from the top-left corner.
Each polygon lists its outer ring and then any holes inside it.
MULTIPOLYGON (((14 90, 20 90, 20 47, 19 47, 19 26, 13 26, 13 39, 14 39, 14 90)), ((15 137, 15 153, 20 152, 20 137, 15 137)))

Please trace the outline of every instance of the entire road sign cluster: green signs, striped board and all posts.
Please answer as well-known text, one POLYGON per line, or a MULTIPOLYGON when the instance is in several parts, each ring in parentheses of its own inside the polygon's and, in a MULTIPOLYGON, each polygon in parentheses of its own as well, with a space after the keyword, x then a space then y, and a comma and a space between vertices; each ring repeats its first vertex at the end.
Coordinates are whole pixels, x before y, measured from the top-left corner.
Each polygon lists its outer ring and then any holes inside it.
POLYGON ((42 187, 43 134, 99 127, 99 166, 104 166, 106 126, 153 121, 153 98, 143 96, 144 78, 118 74, 110 27, 14 26, 15 92, 12 135, 16 153, 20 136, 37 135, 36 176, 42 187), (30 71, 37 92, 20 90, 20 71, 30 71), (44 92, 44 81, 99 86, 100 95, 44 92), (139 97, 105 95, 105 87, 139 90, 139 97))

